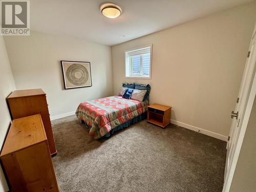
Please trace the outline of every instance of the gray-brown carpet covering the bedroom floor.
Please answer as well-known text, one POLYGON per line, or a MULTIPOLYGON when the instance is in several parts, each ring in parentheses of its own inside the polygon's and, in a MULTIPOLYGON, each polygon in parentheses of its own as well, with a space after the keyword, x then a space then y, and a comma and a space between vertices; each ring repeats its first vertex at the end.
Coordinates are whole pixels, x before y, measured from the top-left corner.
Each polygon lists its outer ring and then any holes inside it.
POLYGON ((52 122, 60 191, 221 191, 226 143, 138 122, 94 140, 75 116, 52 122))

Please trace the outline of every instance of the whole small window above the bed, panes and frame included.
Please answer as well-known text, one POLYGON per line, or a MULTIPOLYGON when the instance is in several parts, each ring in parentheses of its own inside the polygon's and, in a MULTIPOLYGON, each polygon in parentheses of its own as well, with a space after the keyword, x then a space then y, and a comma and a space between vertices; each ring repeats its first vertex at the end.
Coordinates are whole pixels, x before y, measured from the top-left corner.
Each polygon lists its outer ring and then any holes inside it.
POLYGON ((151 78, 152 45, 125 52, 125 77, 151 78))

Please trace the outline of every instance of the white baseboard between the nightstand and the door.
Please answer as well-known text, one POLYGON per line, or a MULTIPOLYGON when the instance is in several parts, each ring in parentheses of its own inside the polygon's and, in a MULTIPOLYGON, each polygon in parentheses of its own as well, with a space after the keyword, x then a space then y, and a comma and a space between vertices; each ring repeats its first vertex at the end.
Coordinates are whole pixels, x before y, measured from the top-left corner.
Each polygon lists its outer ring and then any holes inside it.
POLYGON ((201 129, 199 127, 196 127, 196 126, 193 126, 193 125, 189 125, 189 124, 186 124, 186 123, 182 123, 182 122, 179 122, 179 121, 176 121, 176 120, 170 120, 170 123, 173 123, 175 125, 178 125, 178 126, 182 126, 186 129, 189 129, 189 130, 193 130, 195 132, 199 132, 199 133, 202 133, 204 135, 208 135, 210 137, 214 137, 214 138, 217 138, 217 139, 220 139, 222 141, 227 141, 227 136, 224 136, 224 135, 220 135, 218 133, 214 133, 214 132, 211 132, 211 131, 207 131, 207 130, 204 130, 204 129, 201 129))

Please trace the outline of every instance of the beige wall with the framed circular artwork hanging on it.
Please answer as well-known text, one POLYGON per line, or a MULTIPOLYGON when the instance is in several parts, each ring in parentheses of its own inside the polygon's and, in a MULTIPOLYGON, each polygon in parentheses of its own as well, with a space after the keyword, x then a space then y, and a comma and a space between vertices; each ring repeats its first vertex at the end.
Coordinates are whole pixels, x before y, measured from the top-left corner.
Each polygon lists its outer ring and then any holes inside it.
POLYGON ((109 46, 35 31, 30 36, 6 36, 5 42, 17 90, 44 90, 51 117, 75 111, 82 101, 112 95, 109 46), (65 90, 60 60, 90 61, 93 86, 65 90))

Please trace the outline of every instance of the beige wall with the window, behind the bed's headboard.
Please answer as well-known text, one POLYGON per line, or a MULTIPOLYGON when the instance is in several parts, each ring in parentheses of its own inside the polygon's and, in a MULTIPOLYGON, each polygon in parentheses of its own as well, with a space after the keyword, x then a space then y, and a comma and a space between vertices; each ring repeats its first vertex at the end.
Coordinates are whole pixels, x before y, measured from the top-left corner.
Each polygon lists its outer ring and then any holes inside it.
POLYGON ((114 93, 150 83, 151 103, 173 106, 173 120, 228 136, 255 19, 251 3, 112 47, 114 93), (124 51, 149 44, 152 79, 124 78, 124 51))

